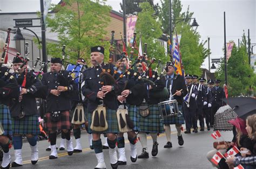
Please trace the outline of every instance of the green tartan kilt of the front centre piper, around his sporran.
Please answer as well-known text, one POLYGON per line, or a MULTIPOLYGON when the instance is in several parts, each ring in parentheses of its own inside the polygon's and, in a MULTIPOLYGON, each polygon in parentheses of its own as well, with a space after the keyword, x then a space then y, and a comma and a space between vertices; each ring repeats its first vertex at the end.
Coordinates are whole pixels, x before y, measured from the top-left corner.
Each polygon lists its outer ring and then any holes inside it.
POLYGON ((89 112, 87 114, 88 116, 88 130, 89 133, 119 133, 119 126, 118 126, 118 121, 117 121, 117 110, 112 110, 106 108, 106 121, 108 128, 105 131, 93 131, 90 126, 92 123, 92 112, 89 112))

